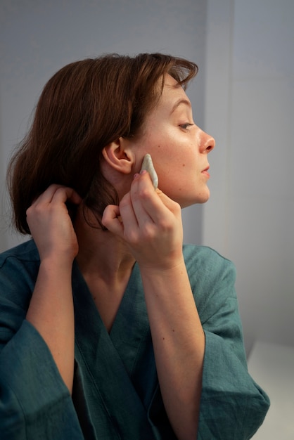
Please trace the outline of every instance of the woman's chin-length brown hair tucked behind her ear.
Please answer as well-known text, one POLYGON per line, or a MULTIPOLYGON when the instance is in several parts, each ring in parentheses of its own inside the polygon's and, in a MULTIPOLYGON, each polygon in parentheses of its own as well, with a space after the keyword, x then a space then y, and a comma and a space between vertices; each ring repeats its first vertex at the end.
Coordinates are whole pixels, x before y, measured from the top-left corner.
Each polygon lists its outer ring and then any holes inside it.
POLYGON ((103 148, 120 136, 139 134, 160 98, 165 73, 186 89, 197 72, 195 63, 161 53, 87 58, 56 72, 8 167, 18 231, 30 233, 26 210, 51 183, 74 188, 100 223, 105 207, 118 202, 101 173, 103 148))

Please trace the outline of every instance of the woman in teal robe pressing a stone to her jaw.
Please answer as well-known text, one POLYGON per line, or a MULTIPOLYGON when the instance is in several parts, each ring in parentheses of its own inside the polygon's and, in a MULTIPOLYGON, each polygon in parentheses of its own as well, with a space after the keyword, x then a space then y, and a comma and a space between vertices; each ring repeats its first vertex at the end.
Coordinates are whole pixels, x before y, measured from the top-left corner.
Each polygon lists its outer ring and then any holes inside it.
POLYGON ((261 425, 234 266, 182 245, 215 147, 185 93, 197 70, 109 55, 46 84, 8 170, 32 240, 0 259, 4 439, 248 439, 261 425))

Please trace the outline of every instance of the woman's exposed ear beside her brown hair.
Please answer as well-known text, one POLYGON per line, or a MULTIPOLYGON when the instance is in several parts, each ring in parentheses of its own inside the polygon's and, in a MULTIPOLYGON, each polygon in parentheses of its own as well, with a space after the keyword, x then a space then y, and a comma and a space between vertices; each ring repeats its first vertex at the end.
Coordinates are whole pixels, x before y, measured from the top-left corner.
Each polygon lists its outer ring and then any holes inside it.
POLYGON ((106 162, 117 171, 130 174, 134 164, 134 153, 129 142, 124 138, 118 138, 106 145, 102 150, 106 162))

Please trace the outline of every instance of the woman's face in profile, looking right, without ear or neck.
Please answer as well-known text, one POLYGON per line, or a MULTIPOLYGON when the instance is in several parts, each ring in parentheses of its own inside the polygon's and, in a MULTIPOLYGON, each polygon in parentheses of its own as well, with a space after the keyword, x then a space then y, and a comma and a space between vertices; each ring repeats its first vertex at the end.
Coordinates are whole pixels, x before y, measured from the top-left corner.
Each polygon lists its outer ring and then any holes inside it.
POLYGON ((207 154, 214 147, 214 138, 193 122, 185 91, 167 75, 160 101, 136 139, 136 159, 141 162, 150 153, 158 173, 158 188, 187 207, 206 202, 210 196, 207 154))

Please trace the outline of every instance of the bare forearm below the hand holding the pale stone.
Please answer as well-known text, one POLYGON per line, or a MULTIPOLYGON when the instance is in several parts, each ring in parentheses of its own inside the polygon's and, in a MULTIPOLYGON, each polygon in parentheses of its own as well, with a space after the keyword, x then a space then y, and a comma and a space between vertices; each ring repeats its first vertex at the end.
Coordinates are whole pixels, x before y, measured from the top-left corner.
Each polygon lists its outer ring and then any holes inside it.
POLYGON ((141 270, 162 399, 179 439, 196 439, 205 336, 184 259, 167 271, 141 270))

